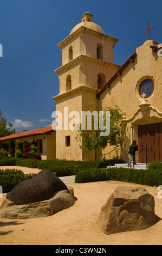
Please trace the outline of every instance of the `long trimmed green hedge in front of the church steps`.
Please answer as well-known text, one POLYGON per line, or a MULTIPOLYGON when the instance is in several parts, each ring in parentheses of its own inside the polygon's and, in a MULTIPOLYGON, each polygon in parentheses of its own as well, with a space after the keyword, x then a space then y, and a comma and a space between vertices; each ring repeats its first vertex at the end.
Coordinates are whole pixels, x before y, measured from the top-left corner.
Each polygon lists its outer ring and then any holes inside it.
POLYGON ((75 175, 76 183, 95 182, 104 180, 118 180, 135 184, 159 186, 162 185, 162 170, 157 169, 86 169, 79 170, 75 175))

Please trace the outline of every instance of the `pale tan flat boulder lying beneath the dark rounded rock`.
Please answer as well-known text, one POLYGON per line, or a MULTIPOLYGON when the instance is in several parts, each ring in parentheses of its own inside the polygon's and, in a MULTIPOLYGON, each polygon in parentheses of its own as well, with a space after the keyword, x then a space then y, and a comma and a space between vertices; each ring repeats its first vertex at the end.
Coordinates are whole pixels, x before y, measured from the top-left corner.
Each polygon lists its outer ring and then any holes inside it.
POLYGON ((58 211, 74 205, 75 197, 73 187, 54 193, 53 197, 41 202, 16 205, 5 198, 0 206, 0 218, 25 219, 36 217, 47 217, 58 211))

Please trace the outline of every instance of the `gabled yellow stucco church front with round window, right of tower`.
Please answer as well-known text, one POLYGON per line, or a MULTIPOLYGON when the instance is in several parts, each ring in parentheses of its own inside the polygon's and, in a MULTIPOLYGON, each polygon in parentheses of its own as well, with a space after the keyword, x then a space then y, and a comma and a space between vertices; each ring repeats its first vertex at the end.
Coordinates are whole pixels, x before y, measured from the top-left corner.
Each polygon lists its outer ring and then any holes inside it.
MULTIPOLYGON (((155 131, 159 133, 156 138, 151 135, 150 141, 147 142, 148 154, 153 157, 157 154, 153 152, 155 147, 159 147, 159 159, 162 159, 162 102, 161 102, 161 86, 162 86, 162 58, 158 57, 158 48, 152 51, 151 45, 159 45, 158 42, 148 40, 144 45, 137 48, 134 58, 128 60, 128 64, 124 69, 119 70, 119 74, 109 83, 109 88, 102 89, 99 93, 99 109, 105 107, 119 106, 124 112, 124 120, 121 122, 122 137, 124 139, 123 145, 120 147, 120 156, 126 162, 129 160, 128 148, 133 139, 139 144, 139 128, 143 126, 147 129, 151 124, 159 124, 160 130, 155 131), (145 81, 152 81, 153 92, 148 97, 142 97, 140 88, 145 81), (153 138, 154 137, 154 138, 153 138), (151 141, 152 139, 152 141, 151 141), (155 142, 158 139, 159 142, 155 142), (159 144, 158 144, 159 143, 159 144), (158 146, 157 146, 158 144, 158 146), (152 153, 150 152, 152 150, 152 153), (153 156, 154 154, 154 156, 153 156)), ((158 125, 158 126, 159 126, 158 125)), ((153 133, 153 125, 150 126, 150 131, 147 134, 142 134, 145 140, 149 137, 149 133, 153 133)), ((156 135, 157 136, 157 135, 156 135)), ((103 154, 107 154, 114 148, 114 145, 108 145, 103 150, 103 154)), ((113 155, 114 153, 112 153, 113 155)), ((145 154, 145 150, 143 152, 145 154)), ((109 155, 110 157, 112 155, 109 155)), ((139 162, 139 155, 137 155, 137 162, 139 162)))

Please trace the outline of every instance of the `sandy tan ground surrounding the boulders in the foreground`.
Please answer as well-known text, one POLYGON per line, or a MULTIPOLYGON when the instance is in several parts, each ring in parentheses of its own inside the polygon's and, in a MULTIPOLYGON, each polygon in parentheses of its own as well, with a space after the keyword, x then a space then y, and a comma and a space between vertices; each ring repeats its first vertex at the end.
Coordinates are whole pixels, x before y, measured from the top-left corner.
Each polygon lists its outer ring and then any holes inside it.
MULTIPOLYGON (((25 168, 28 169, 28 168, 25 168)), ((30 168, 29 168, 30 169, 30 168)), ((28 170, 27 170, 28 171, 28 170)), ((40 171, 40 170, 39 170, 40 171)), ((31 170, 30 170, 31 173, 31 170)), ((158 188, 118 181, 67 184, 74 188, 75 204, 53 216, 28 220, 0 219, 0 245, 161 245, 162 198, 158 188), (155 199, 156 223, 141 231, 105 235, 96 221, 101 207, 118 186, 145 187, 155 199)), ((6 194, 3 194, 3 199, 6 194)), ((0 205, 3 201, 0 199, 0 205)))

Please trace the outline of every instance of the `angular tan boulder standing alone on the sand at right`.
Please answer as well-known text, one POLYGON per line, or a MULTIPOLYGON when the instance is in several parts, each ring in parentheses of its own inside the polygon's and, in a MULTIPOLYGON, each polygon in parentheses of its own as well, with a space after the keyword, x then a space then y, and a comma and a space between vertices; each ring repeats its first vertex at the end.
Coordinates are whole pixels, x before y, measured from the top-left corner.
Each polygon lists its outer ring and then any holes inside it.
POLYGON ((102 206, 98 227, 105 234, 146 229, 155 223, 154 206, 145 188, 120 186, 102 206))

